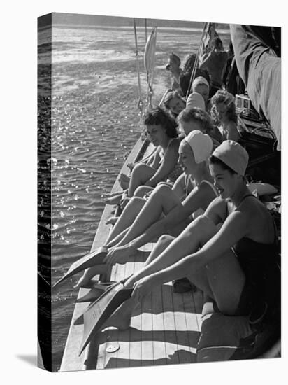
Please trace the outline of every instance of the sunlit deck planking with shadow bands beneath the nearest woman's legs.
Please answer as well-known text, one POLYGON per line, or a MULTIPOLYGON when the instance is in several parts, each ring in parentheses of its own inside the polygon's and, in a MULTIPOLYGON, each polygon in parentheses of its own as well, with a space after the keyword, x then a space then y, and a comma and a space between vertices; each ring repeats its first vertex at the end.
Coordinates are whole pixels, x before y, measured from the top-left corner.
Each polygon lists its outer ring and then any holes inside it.
MULTIPOLYGON (((146 245, 125 265, 115 265, 111 279, 119 281, 140 269, 151 250, 152 244, 146 245)), ((153 290, 134 310, 129 329, 101 332, 87 364, 94 361, 97 369, 104 369, 194 362, 201 328, 199 300, 200 292, 173 293, 171 283, 153 290)))

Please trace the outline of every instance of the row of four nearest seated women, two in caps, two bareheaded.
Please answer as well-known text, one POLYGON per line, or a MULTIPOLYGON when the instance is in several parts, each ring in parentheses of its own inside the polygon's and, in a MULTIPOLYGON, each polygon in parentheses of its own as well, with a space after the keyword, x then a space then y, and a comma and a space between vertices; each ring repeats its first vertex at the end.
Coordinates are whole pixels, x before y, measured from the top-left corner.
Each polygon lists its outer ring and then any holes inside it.
POLYGON ((127 261, 148 241, 157 241, 143 269, 125 282, 134 291, 110 318, 118 328, 129 326, 135 304, 152 288, 182 277, 203 290, 223 314, 251 315, 262 304, 263 316, 278 300, 275 227, 269 211, 246 186, 248 154, 233 140, 217 146, 205 111, 185 110, 178 116, 182 137, 165 111, 147 113, 147 134, 162 149, 160 166, 134 167, 128 188, 132 199, 104 245, 106 265, 86 270, 77 285, 127 261), (159 176, 167 177, 175 168, 171 159, 176 150, 184 174, 173 186, 159 183, 159 176), (140 169, 148 179, 136 186, 134 173, 140 169), (156 188, 145 197, 141 186, 156 188))

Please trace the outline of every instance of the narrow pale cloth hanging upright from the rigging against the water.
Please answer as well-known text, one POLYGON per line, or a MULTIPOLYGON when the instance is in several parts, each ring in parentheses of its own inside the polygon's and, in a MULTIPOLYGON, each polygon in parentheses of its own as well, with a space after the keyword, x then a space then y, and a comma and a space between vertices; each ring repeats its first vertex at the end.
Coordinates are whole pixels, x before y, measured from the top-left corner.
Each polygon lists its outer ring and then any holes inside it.
POLYGON ((157 27, 153 27, 144 52, 144 66, 147 72, 147 109, 152 107, 153 78, 156 51, 157 27))

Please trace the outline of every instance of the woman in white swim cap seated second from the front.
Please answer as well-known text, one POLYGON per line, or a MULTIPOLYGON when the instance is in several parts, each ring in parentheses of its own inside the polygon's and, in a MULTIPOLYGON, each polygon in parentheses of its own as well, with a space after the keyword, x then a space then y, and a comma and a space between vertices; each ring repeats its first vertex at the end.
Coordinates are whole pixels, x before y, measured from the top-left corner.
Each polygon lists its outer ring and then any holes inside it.
MULTIPOLYGON (((105 246, 110 249, 106 258, 108 265, 124 260, 137 248, 167 232, 179 235, 195 216, 203 214, 217 196, 208 168, 212 148, 210 137, 199 130, 181 141, 178 162, 184 174, 173 188, 160 183, 147 201, 132 198, 106 241, 105 246), (125 229, 128 231, 123 232, 125 229)), ((93 271, 90 270, 91 274, 93 271)), ((91 274, 86 274, 81 283, 91 274)))

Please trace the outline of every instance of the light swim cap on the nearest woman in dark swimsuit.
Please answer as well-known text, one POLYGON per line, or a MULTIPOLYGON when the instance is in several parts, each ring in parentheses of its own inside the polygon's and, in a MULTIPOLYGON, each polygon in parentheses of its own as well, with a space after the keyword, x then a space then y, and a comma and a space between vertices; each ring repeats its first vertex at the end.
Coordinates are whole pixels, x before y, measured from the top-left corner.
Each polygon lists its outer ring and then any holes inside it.
POLYGON ((249 155, 236 141, 222 141, 222 144, 215 148, 213 154, 219 160, 229 166, 233 171, 244 176, 248 165, 249 155))

